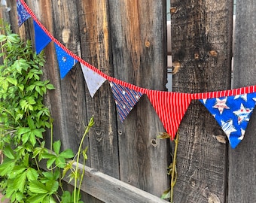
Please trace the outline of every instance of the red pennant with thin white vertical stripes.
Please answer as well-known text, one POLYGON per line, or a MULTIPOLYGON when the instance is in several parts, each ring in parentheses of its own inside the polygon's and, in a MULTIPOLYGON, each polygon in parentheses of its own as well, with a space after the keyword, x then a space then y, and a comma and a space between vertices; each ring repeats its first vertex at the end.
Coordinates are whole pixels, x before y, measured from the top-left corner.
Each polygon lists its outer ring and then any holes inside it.
POLYGON ((163 123, 164 129, 173 140, 178 126, 191 102, 191 95, 179 92, 150 90, 148 98, 163 123))

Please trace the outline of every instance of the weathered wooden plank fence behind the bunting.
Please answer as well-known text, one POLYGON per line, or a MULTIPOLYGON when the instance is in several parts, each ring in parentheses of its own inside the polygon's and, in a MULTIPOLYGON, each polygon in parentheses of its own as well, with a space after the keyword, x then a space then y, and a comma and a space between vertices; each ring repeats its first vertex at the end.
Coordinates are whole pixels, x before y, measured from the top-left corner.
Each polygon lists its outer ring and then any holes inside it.
MULTIPOLYGON (((49 32, 105 74, 147 89, 166 90, 166 2, 155 0, 27 0, 49 32)), ((17 26, 16 1, 0 14, 24 39, 34 39, 32 20, 17 26)), ((237 2, 233 86, 254 85, 255 4, 237 2), (251 22, 251 24, 249 23, 251 22), (251 35, 245 35, 250 33, 251 35)), ((233 1, 171 1, 175 92, 231 88, 233 1)), ((157 140, 163 125, 144 95, 123 123, 108 83, 91 98, 80 65, 60 80, 53 44, 45 48, 44 77, 56 90, 45 98, 54 139, 78 150, 84 125, 95 125, 83 185, 86 202, 165 202, 172 144, 157 140)), ((230 150, 224 132, 194 101, 180 126, 174 202, 256 202, 252 115, 245 139, 230 150)), ((68 185, 70 186, 70 185, 68 185)))

